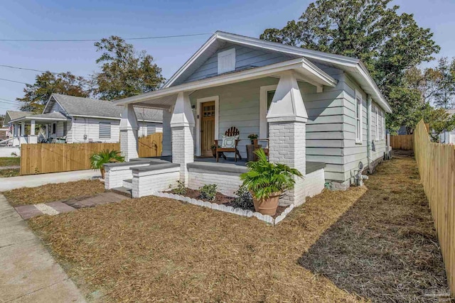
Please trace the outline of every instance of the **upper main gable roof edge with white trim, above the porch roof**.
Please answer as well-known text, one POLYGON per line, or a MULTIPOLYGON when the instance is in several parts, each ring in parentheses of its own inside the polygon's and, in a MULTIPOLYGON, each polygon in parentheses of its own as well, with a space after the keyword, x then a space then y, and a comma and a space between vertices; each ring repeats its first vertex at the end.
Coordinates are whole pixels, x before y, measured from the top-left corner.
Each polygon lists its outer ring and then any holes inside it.
POLYGON ((331 53, 323 53, 317 50, 308 50, 296 46, 285 45, 282 43, 274 43, 257 38, 246 37, 243 35, 236 35, 232 33, 225 33, 217 31, 214 33, 200 48, 194 53, 193 56, 179 69, 177 72, 168 79, 164 88, 172 87, 181 84, 188 78, 198 67, 208 60, 210 56, 215 54, 217 50, 223 46, 224 43, 235 43, 239 45, 247 45, 250 48, 257 48, 261 50, 269 50, 272 52, 285 53, 290 56, 304 57, 313 63, 320 63, 330 67, 335 67, 343 70, 350 75, 362 87, 362 89, 373 98, 373 100, 380 105, 382 109, 387 112, 392 112, 390 105, 382 96, 378 86, 371 77, 363 63, 353 57, 346 57, 343 55, 334 55, 331 53))

